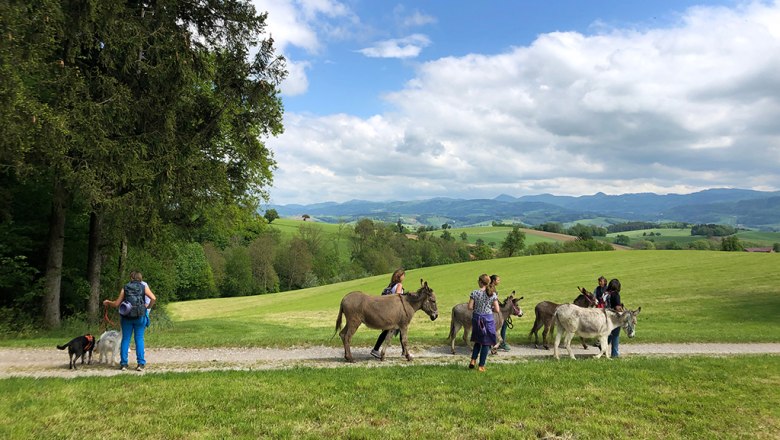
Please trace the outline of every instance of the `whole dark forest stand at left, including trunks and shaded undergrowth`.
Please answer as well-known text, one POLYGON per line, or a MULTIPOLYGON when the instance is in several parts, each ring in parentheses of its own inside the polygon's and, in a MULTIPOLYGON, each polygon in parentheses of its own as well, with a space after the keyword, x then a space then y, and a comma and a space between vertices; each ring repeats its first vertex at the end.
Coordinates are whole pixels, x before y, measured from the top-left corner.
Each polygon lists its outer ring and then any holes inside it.
POLYGON ((0 8, 0 304, 57 327, 97 319, 131 268, 159 292, 209 289, 184 256, 263 229, 263 138, 282 131, 286 75, 266 15, 247 1, 0 8))

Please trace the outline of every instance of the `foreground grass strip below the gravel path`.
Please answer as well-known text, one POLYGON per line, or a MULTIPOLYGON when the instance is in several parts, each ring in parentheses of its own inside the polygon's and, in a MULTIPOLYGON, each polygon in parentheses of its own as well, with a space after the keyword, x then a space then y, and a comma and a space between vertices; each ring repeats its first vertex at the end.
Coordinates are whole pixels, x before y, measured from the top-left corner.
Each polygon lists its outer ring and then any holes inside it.
POLYGON ((779 372, 740 356, 4 379, 0 438, 775 439, 779 372))

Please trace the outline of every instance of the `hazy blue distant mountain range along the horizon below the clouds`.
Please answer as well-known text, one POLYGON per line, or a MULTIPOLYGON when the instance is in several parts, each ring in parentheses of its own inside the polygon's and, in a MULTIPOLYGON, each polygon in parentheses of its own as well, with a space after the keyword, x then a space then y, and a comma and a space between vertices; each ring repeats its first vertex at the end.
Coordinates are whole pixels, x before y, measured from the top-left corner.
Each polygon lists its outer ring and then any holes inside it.
POLYGON ((351 200, 312 205, 270 205, 282 217, 308 214, 324 222, 360 218, 405 224, 462 227, 501 221, 538 225, 589 221, 603 226, 624 221, 717 223, 780 230, 780 191, 708 189, 692 194, 654 193, 590 196, 540 194, 493 199, 432 198, 416 201, 351 200))

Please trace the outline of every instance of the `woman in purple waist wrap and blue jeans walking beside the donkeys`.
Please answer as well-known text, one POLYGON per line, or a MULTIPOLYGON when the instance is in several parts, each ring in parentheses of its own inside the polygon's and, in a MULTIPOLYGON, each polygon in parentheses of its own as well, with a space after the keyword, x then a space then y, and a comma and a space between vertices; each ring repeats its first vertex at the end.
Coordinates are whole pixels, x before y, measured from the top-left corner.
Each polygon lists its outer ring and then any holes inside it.
POLYGON ((479 289, 471 292, 469 297, 469 310, 471 315, 471 342, 474 349, 471 351, 471 363, 469 368, 474 368, 479 356, 479 371, 485 371, 485 362, 490 347, 496 345, 496 322, 493 312, 501 313, 498 305, 496 288, 490 277, 483 273, 477 280, 479 289))

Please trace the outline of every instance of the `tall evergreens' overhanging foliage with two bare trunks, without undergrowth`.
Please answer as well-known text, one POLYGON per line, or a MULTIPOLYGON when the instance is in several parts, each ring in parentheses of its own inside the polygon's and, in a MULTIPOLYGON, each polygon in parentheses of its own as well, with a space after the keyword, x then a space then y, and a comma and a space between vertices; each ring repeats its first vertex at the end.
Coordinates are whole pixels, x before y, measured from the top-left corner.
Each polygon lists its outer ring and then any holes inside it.
POLYGON ((0 171, 51 182, 48 326, 59 324, 74 198, 92 218, 93 316, 106 243, 143 243, 166 223, 202 225, 215 205, 255 211, 272 178, 262 137, 282 130, 285 75, 273 41, 262 38, 265 14, 236 0, 2 7, 0 73, 9 81, 0 86, 0 171))

